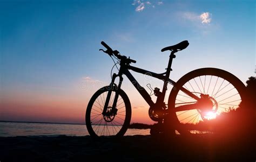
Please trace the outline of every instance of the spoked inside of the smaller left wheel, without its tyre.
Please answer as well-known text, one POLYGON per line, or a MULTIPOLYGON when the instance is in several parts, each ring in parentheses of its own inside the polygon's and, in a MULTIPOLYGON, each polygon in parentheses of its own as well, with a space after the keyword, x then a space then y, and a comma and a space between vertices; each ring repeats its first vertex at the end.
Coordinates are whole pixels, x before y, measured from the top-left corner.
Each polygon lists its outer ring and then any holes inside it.
POLYGON ((111 113, 113 110, 112 104, 114 96, 116 95, 115 91, 111 91, 111 97, 107 108, 109 115, 102 115, 107 93, 108 91, 101 93, 92 104, 90 122, 91 128, 93 132, 95 132, 96 136, 116 136, 122 130, 125 123, 126 105, 122 96, 118 96, 118 101, 116 104, 117 114, 113 115, 111 113))

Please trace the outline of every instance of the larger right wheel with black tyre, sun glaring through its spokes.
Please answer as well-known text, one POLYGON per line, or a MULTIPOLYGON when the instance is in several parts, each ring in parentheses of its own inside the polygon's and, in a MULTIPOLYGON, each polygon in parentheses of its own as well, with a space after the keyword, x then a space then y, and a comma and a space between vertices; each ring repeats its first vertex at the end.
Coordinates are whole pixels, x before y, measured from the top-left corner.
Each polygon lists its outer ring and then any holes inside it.
POLYGON ((222 69, 201 68, 178 80, 171 90, 168 107, 181 134, 201 133, 209 130, 197 127, 198 123, 237 109, 242 100, 245 100, 245 85, 237 77, 222 69), (184 93, 182 88, 199 100, 184 93))

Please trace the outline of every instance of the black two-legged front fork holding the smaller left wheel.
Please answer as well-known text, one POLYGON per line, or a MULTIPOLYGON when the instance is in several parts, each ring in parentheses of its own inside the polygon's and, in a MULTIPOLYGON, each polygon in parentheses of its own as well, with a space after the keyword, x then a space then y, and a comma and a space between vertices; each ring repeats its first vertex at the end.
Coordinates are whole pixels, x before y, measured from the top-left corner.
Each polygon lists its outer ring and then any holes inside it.
POLYGON ((113 112, 113 115, 117 115, 117 111, 114 111, 116 110, 116 106, 117 106, 117 101, 118 101, 118 96, 119 96, 119 89, 121 88, 121 85, 122 85, 122 82, 123 82, 123 77, 122 75, 118 75, 116 73, 114 73, 112 75, 112 80, 111 80, 111 83, 110 83, 110 89, 109 91, 107 92, 107 97, 106 97, 106 102, 104 104, 104 108, 103 108, 103 112, 102 114, 105 116, 106 115, 106 112, 107 112, 107 108, 109 107, 109 102, 110 102, 110 97, 111 97, 111 93, 112 93, 112 90, 116 89, 116 95, 114 96, 114 101, 113 101, 113 104, 112 104, 112 112, 113 112), (114 83, 114 80, 116 80, 117 76, 119 76, 119 83, 118 83, 118 87, 117 85, 114 83))

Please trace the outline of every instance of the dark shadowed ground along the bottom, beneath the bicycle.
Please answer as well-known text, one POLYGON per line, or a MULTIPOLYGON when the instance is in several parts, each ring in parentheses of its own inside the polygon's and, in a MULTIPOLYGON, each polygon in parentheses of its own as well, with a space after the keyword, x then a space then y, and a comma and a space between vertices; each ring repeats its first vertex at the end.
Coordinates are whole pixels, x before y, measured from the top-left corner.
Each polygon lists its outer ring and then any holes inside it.
POLYGON ((216 135, 119 139, 90 136, 0 137, 0 161, 254 161, 255 139, 216 135))

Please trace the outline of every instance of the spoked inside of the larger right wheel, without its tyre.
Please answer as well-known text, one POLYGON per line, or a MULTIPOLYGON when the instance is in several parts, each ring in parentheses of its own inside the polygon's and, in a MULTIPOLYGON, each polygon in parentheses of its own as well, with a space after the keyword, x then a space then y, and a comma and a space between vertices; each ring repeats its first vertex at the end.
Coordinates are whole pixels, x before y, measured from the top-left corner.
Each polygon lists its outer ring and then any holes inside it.
MULTIPOLYGON (((225 77, 224 77, 225 78, 225 77)), ((219 76, 214 75, 200 75, 194 78, 190 78, 187 82, 183 84, 183 87, 187 90, 193 92, 200 98, 200 94, 209 95, 212 101, 215 100, 215 108, 212 110, 185 110, 176 112, 179 123, 185 125, 198 124, 200 121, 205 121, 209 119, 214 119, 219 116, 222 112, 228 112, 231 109, 237 109, 241 102, 241 94, 239 94, 238 89, 236 89, 233 84, 219 76)), ((174 107, 178 108, 180 105, 197 103, 194 98, 183 93, 179 90, 174 102, 174 107)), ((203 133, 198 130, 193 130, 190 128, 192 133, 203 133)))

